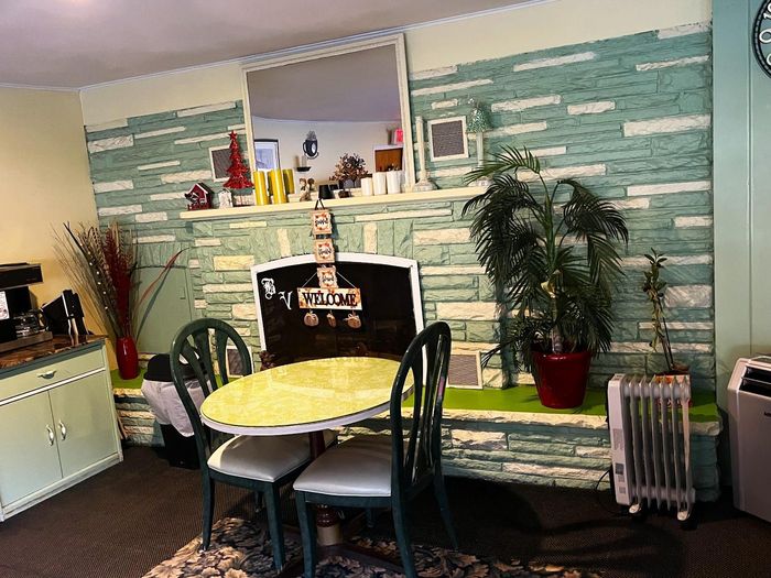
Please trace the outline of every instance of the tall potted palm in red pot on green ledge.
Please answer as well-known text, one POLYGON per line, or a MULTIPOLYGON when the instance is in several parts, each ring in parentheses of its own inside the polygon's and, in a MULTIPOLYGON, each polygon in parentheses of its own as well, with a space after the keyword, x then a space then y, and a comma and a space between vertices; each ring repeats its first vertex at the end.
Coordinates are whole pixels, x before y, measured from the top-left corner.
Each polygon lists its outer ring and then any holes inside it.
POLYGON ((543 405, 577 407, 591 357, 610 348, 623 216, 572 178, 547 185, 526 149, 504 146, 466 176, 482 177, 491 184, 464 214, 474 214, 478 259, 508 312, 488 359, 510 348, 543 405))

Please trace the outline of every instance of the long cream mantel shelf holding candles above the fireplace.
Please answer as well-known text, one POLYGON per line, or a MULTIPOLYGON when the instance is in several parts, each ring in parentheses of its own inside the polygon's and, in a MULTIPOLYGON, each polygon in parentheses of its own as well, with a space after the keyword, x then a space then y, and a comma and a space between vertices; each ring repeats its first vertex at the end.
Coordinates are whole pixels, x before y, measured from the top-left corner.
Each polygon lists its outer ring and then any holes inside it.
MULTIPOLYGON (((435 200, 463 200, 475 197, 485 192, 485 187, 443 188, 423 193, 400 193, 398 195, 374 195, 368 197, 335 198, 324 201, 325 207, 357 207, 369 205, 392 205, 408 203, 432 203, 435 200)), ((251 215, 268 215, 271 212, 307 211, 313 210, 316 201, 304 200, 285 203, 282 205, 253 205, 249 207, 234 207, 229 209, 187 210, 180 217, 188 220, 232 219, 251 215)))

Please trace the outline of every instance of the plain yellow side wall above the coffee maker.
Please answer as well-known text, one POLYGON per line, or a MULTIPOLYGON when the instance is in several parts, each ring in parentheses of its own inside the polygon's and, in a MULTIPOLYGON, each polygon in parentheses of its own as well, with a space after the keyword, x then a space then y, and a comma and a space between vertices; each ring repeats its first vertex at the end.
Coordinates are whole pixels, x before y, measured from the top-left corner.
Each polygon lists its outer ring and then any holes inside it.
POLYGON ((0 88, 0 263, 41 263, 42 304, 70 286, 52 228, 97 218, 77 92, 0 88))

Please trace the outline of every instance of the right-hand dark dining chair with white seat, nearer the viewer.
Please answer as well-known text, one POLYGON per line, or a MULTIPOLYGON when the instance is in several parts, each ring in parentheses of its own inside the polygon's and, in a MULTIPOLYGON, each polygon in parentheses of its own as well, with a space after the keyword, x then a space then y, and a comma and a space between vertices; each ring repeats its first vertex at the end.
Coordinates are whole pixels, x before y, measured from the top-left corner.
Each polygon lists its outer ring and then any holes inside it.
POLYGON ((313 504, 390 508, 404 574, 414 578, 408 504, 433 484, 445 528, 457 548, 442 473, 442 404, 450 340, 449 327, 438 321, 410 343, 391 390, 390 436, 357 436, 339 444, 317 457, 295 480, 306 578, 314 576, 317 558, 313 504), (408 422, 402 418, 402 399, 410 389, 413 413, 408 422))

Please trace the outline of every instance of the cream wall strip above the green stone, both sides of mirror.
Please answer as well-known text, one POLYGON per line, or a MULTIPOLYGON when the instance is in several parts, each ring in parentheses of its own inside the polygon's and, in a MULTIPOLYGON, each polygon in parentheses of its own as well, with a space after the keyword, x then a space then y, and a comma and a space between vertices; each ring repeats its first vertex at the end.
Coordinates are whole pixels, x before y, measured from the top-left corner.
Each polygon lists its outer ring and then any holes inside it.
MULTIPOLYGON (((408 30, 411 72, 705 22, 712 0, 555 0, 408 30)), ((238 100, 241 66, 225 63, 82 90, 87 124, 238 100)))

